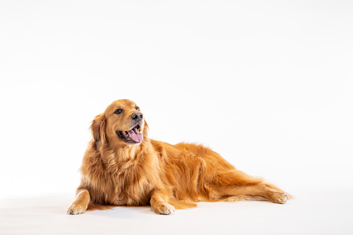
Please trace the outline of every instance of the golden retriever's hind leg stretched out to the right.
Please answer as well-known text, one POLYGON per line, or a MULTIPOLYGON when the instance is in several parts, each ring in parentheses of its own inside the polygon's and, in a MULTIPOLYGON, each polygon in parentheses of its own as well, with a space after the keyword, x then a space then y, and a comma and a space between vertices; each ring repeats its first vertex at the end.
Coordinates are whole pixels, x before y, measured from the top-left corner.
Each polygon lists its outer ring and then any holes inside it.
POLYGON ((233 197, 234 200, 270 200, 284 204, 290 198, 289 194, 261 178, 237 170, 218 173, 212 189, 219 194, 220 200, 232 200, 233 197))

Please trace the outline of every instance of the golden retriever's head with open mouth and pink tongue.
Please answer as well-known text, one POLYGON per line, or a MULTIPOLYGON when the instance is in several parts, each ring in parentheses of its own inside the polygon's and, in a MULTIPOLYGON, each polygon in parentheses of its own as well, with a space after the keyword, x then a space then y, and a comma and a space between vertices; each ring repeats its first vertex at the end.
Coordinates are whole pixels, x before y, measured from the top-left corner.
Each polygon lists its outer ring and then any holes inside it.
POLYGON ((92 121, 91 131, 96 146, 101 143, 135 145, 147 137, 147 123, 139 106, 130 100, 110 104, 92 121))

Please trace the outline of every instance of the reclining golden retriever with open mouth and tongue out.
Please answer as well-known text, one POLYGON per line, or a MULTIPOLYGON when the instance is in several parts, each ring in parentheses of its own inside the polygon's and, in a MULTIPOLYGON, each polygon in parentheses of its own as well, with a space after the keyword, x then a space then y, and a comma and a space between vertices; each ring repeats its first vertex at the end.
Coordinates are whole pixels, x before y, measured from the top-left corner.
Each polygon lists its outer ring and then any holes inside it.
POLYGON ((68 214, 87 208, 150 205, 169 215, 194 202, 263 200, 285 203, 291 196, 276 186, 236 170, 209 148, 148 138, 139 106, 114 101, 92 121, 80 168, 81 181, 68 214), (99 206, 102 205, 102 206, 99 206))

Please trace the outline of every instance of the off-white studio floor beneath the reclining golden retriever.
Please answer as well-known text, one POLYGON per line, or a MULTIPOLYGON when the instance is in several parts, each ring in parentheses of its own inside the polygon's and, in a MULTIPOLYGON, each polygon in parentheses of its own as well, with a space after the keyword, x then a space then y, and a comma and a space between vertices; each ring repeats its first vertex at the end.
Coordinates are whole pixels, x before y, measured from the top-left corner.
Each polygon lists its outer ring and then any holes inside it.
POLYGON ((69 216, 73 195, 2 200, 0 234, 353 234, 353 191, 295 193, 286 204, 201 202, 171 216, 150 207, 69 216))

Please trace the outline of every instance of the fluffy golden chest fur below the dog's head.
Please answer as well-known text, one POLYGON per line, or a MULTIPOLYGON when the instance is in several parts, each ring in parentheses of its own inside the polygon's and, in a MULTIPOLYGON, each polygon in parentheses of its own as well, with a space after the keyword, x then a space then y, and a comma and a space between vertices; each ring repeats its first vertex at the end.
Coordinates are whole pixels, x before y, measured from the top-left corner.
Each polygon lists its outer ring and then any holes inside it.
MULTIPOLYGON (((150 193, 160 184, 160 166, 157 155, 140 151, 144 152, 146 154, 122 159, 119 153, 112 151, 102 155, 94 148, 87 150, 80 169, 81 184, 94 191, 91 200, 114 205, 149 204, 150 193)), ((133 156, 133 153, 123 154, 133 156)))

